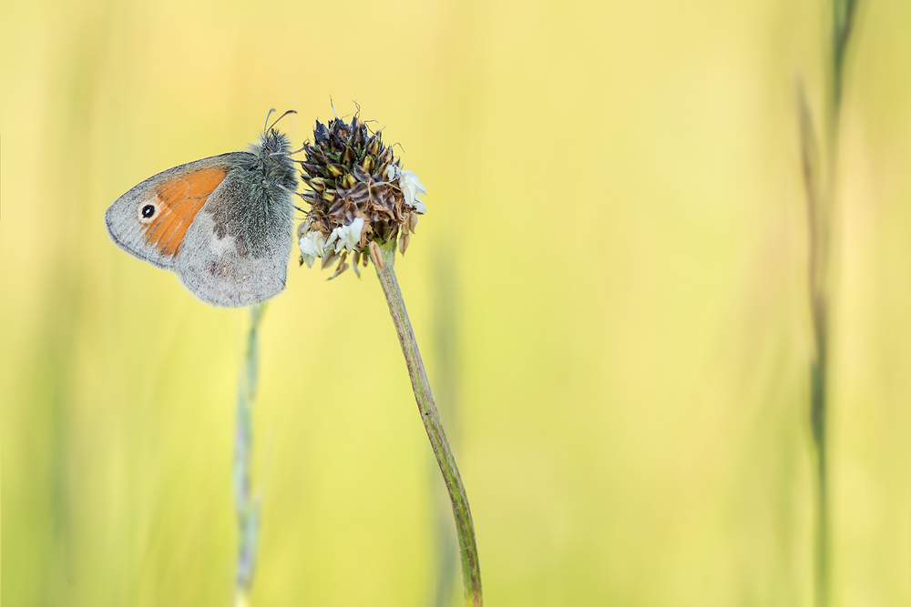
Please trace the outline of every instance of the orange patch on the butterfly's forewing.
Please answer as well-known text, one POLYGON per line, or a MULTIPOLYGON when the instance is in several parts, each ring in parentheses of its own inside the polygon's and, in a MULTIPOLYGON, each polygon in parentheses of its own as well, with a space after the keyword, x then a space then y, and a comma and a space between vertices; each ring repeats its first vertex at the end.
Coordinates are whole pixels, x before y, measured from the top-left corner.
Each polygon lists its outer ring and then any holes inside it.
POLYGON ((139 207, 140 217, 144 212, 153 213, 150 221, 143 222, 146 242, 159 249, 162 255, 177 255, 196 214, 227 174, 225 167, 204 168, 175 177, 157 187, 155 198, 139 207), (154 209, 148 209, 148 205, 154 209))

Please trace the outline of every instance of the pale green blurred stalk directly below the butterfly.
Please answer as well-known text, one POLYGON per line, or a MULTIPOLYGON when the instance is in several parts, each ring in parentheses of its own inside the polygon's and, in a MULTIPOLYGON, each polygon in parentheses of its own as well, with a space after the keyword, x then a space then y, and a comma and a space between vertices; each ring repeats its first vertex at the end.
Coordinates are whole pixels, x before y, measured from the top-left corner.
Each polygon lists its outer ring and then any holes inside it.
POLYGON ((266 304, 250 309, 247 349, 237 390, 237 433, 234 436, 234 506, 237 511, 238 552, 234 604, 250 604, 260 529, 260 498, 251 491, 250 461, 253 452, 253 403, 259 373, 259 328, 266 304))

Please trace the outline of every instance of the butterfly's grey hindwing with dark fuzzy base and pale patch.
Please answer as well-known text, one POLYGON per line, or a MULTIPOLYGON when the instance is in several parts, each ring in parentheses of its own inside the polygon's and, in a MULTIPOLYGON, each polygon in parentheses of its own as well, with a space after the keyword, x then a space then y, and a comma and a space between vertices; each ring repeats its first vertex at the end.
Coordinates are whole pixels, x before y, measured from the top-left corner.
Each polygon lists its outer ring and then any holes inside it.
MULTIPOLYGON (((293 184, 292 184, 293 185, 293 184)), ((217 306, 248 306, 285 286, 293 205, 261 170, 238 167, 209 197, 175 258, 180 280, 217 306)))

